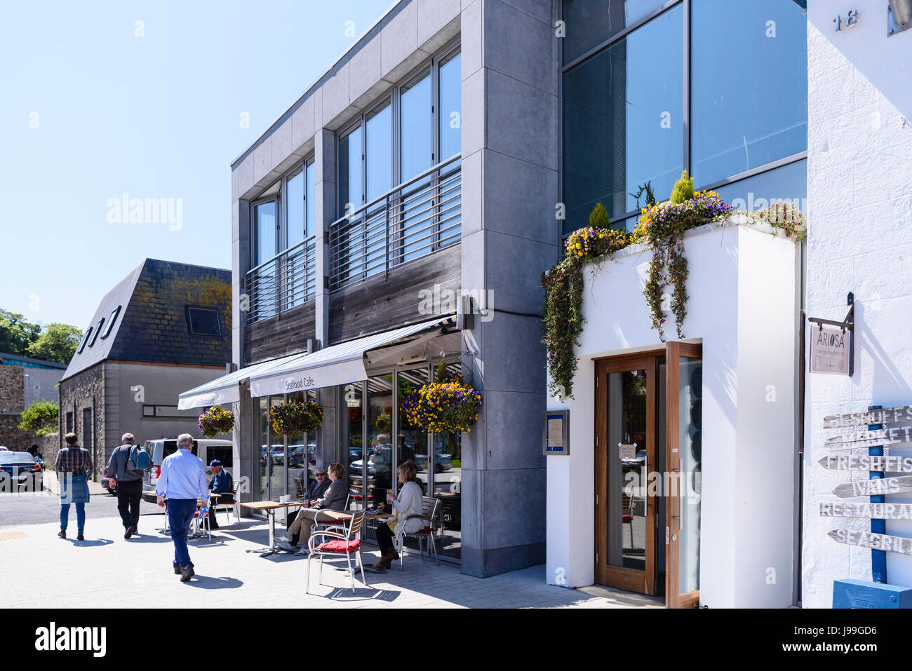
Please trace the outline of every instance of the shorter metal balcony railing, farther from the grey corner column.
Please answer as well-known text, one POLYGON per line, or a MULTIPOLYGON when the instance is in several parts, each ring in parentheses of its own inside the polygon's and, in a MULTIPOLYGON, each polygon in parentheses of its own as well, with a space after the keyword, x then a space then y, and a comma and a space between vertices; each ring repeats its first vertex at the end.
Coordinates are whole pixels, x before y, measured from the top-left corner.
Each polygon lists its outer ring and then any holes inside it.
POLYGON ((316 243, 307 238, 250 270, 244 290, 250 300, 247 324, 304 305, 316 295, 316 243))

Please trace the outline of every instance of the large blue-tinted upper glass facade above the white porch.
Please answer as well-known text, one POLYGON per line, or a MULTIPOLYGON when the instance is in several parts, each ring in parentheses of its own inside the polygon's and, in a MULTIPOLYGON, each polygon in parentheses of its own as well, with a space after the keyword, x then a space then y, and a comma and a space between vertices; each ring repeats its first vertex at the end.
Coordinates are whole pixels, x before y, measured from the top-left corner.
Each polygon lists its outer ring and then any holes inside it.
MULTIPOLYGON (((631 192, 645 181, 659 201, 685 168, 697 189, 744 191, 731 178, 807 149, 807 22, 793 0, 563 7, 565 233, 588 225, 596 202, 632 228, 631 192)), ((777 198, 803 198, 803 170, 777 175, 777 198)))

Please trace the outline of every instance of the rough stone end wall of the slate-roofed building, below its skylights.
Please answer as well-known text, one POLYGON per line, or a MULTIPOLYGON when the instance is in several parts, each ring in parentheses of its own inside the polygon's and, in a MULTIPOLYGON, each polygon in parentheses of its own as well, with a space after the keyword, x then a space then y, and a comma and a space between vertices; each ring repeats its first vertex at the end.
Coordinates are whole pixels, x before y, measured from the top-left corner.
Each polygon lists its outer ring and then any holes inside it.
MULTIPOLYGON (((101 480, 104 465, 105 436, 105 364, 92 366, 60 383, 60 434, 57 444, 67 433, 67 413, 73 413, 73 431, 79 445, 90 448, 95 470, 92 479, 101 480), (83 411, 90 410, 91 424, 84 426, 83 411)), ((61 446, 62 447, 62 446, 61 446)))

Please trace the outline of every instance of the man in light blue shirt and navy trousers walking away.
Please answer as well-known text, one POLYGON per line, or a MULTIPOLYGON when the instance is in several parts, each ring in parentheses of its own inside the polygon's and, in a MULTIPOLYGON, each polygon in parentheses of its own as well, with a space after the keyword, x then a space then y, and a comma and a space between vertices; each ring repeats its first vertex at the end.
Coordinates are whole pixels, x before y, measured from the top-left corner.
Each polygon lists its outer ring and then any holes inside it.
POLYGON ((192 578, 193 563, 187 552, 187 532, 196 512, 196 500, 201 505, 209 504, 209 485, 206 483, 206 467, 202 459, 190 449, 193 438, 189 433, 177 437, 178 450, 161 462, 161 474, 155 485, 155 495, 160 506, 168 500, 168 523, 171 525, 171 541, 174 542, 174 573, 181 575, 181 583, 192 578))

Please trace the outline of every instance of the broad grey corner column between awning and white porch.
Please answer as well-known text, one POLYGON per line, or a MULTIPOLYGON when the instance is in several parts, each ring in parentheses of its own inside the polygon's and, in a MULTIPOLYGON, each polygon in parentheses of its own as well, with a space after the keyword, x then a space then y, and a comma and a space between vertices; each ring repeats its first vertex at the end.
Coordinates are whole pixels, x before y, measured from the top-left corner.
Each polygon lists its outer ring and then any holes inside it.
POLYGON ((560 250, 560 45, 550 2, 463 5, 462 289, 491 292, 493 312, 464 334, 484 406, 462 439, 461 570, 485 577, 544 563, 538 315, 560 250))

